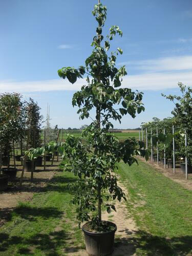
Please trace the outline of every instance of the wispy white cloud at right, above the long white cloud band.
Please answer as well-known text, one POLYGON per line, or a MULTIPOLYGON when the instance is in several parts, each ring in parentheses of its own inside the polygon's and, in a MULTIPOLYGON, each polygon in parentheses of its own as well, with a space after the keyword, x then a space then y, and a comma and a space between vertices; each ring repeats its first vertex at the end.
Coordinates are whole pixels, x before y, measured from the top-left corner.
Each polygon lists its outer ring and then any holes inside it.
POLYGON ((127 65, 131 69, 143 70, 145 72, 192 70, 192 55, 127 61, 121 62, 119 65, 127 65))

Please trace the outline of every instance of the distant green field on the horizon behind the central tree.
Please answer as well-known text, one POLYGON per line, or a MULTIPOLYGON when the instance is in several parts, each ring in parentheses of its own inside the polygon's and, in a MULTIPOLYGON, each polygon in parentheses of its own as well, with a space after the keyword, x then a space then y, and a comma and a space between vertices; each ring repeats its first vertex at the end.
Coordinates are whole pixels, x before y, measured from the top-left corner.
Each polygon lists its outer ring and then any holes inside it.
MULTIPOLYGON (((79 137, 81 135, 80 132, 71 132, 71 131, 63 131, 63 139, 67 138, 66 134, 72 134, 75 137, 79 137)), ((118 139, 125 140, 129 137, 139 138, 139 132, 136 130, 123 131, 123 132, 114 132, 114 135, 118 137, 118 139)), ((59 136, 59 140, 61 140, 61 135, 59 136)))

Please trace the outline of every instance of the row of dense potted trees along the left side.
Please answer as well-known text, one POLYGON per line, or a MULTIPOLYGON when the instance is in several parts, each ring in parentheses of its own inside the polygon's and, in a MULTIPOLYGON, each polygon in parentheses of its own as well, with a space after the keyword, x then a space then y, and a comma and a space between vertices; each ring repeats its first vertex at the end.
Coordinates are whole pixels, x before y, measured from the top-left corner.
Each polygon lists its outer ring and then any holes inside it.
MULTIPOLYGON (((8 181, 16 179, 17 169, 10 167, 13 143, 26 140, 27 147, 40 146, 41 121, 40 108, 33 99, 22 101, 22 96, 18 93, 0 95, 0 190, 7 188, 8 181)), ((21 160, 21 157, 23 156, 17 155, 15 160, 21 160)), ((28 168, 27 161, 25 167, 28 168)))

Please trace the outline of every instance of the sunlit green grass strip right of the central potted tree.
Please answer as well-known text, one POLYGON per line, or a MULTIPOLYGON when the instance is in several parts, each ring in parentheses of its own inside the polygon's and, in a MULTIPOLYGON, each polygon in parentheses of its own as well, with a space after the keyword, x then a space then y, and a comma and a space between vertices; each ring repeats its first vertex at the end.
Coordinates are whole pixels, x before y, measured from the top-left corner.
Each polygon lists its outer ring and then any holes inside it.
POLYGON ((186 255, 192 252, 192 191, 166 178, 147 163, 119 164, 128 190, 127 208, 139 232, 137 253, 186 255), (191 250, 191 251, 190 251, 191 250))

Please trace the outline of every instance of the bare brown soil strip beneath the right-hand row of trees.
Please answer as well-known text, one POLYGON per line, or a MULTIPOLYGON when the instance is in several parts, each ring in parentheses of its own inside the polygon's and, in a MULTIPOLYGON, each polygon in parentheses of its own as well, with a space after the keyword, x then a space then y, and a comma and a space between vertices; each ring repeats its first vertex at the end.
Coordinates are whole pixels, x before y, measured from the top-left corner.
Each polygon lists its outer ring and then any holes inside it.
POLYGON ((157 162, 152 162, 148 160, 145 161, 144 158, 139 158, 142 162, 145 162, 146 164, 153 166, 158 172, 162 173, 169 179, 172 179, 173 181, 179 183, 181 186, 183 186, 186 189, 192 190, 192 174, 188 174, 188 180, 185 179, 185 174, 181 172, 180 165, 176 164, 176 173, 174 174, 173 168, 168 168, 166 165, 166 168, 164 168, 164 165, 157 162))

